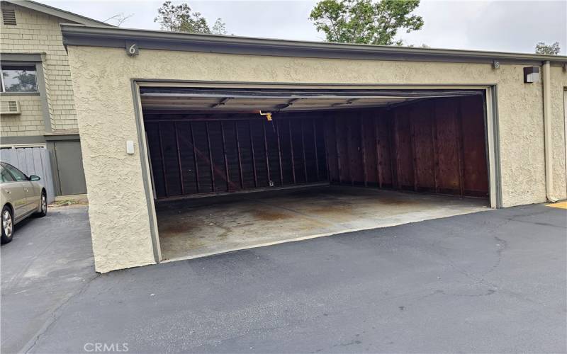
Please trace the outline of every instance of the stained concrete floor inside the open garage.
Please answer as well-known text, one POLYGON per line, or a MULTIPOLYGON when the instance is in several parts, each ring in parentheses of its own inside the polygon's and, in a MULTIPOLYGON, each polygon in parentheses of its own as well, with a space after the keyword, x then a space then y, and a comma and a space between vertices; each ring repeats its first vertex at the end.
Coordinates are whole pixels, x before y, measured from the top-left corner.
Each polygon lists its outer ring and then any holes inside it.
POLYGON ((488 200, 320 186, 157 203, 162 257, 175 261, 490 210, 488 200))

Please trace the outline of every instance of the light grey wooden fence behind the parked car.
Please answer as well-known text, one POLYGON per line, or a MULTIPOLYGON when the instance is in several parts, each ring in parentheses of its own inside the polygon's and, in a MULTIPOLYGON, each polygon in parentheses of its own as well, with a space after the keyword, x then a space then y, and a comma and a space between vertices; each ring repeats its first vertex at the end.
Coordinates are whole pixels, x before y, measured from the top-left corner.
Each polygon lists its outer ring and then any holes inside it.
POLYGON ((39 183, 47 190, 47 202, 55 200, 49 152, 45 147, 1 149, 0 160, 17 167, 28 176, 40 176, 39 183))

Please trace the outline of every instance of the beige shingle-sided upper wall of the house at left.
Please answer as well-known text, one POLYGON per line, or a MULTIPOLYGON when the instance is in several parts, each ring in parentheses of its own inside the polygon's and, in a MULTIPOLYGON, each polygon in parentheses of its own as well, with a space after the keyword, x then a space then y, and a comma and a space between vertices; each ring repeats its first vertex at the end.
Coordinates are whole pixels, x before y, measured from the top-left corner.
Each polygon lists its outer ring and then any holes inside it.
MULTIPOLYGON (((74 108, 71 72, 69 71, 67 52, 63 47, 59 25, 60 22, 68 21, 21 6, 6 6, 16 11, 17 24, 4 25, 0 21, 0 52, 44 54, 43 72, 52 130, 53 132, 77 133, 77 115, 74 108)), ((8 127, 1 129, 2 137, 43 135, 45 133, 42 105, 28 104, 28 102, 33 101, 29 96, 2 96, 0 100, 18 100, 25 103, 22 104, 22 115, 19 121, 14 119, 15 116, 6 119, 0 118, 0 124, 8 127), (32 117, 35 118, 33 125, 30 124, 32 117), (17 125, 21 125, 21 127, 16 127, 17 125), (37 129, 31 130, 31 126, 35 126, 37 129), (17 133, 14 134, 13 132, 17 133)))

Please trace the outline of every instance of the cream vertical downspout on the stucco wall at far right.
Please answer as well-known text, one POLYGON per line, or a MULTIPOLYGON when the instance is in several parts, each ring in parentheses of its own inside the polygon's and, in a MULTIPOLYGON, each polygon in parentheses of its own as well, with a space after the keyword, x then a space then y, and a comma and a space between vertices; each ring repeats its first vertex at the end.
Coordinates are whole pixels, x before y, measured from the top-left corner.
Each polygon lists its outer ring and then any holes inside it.
POLYGON ((550 202, 557 202, 556 198, 551 195, 554 189, 554 179, 553 179, 553 156, 551 156, 552 145, 551 145, 551 82, 549 70, 549 60, 544 62, 543 67, 543 78, 544 78, 544 152, 545 152, 545 194, 547 200, 550 202))

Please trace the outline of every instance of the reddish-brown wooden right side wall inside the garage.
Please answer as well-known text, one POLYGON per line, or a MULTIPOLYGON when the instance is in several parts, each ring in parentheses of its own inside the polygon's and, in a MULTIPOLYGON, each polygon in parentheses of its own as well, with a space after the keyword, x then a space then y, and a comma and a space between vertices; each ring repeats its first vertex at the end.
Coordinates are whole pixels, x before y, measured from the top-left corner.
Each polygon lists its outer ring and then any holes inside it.
POLYGON ((332 113, 325 139, 332 183, 488 196, 481 96, 332 113))

